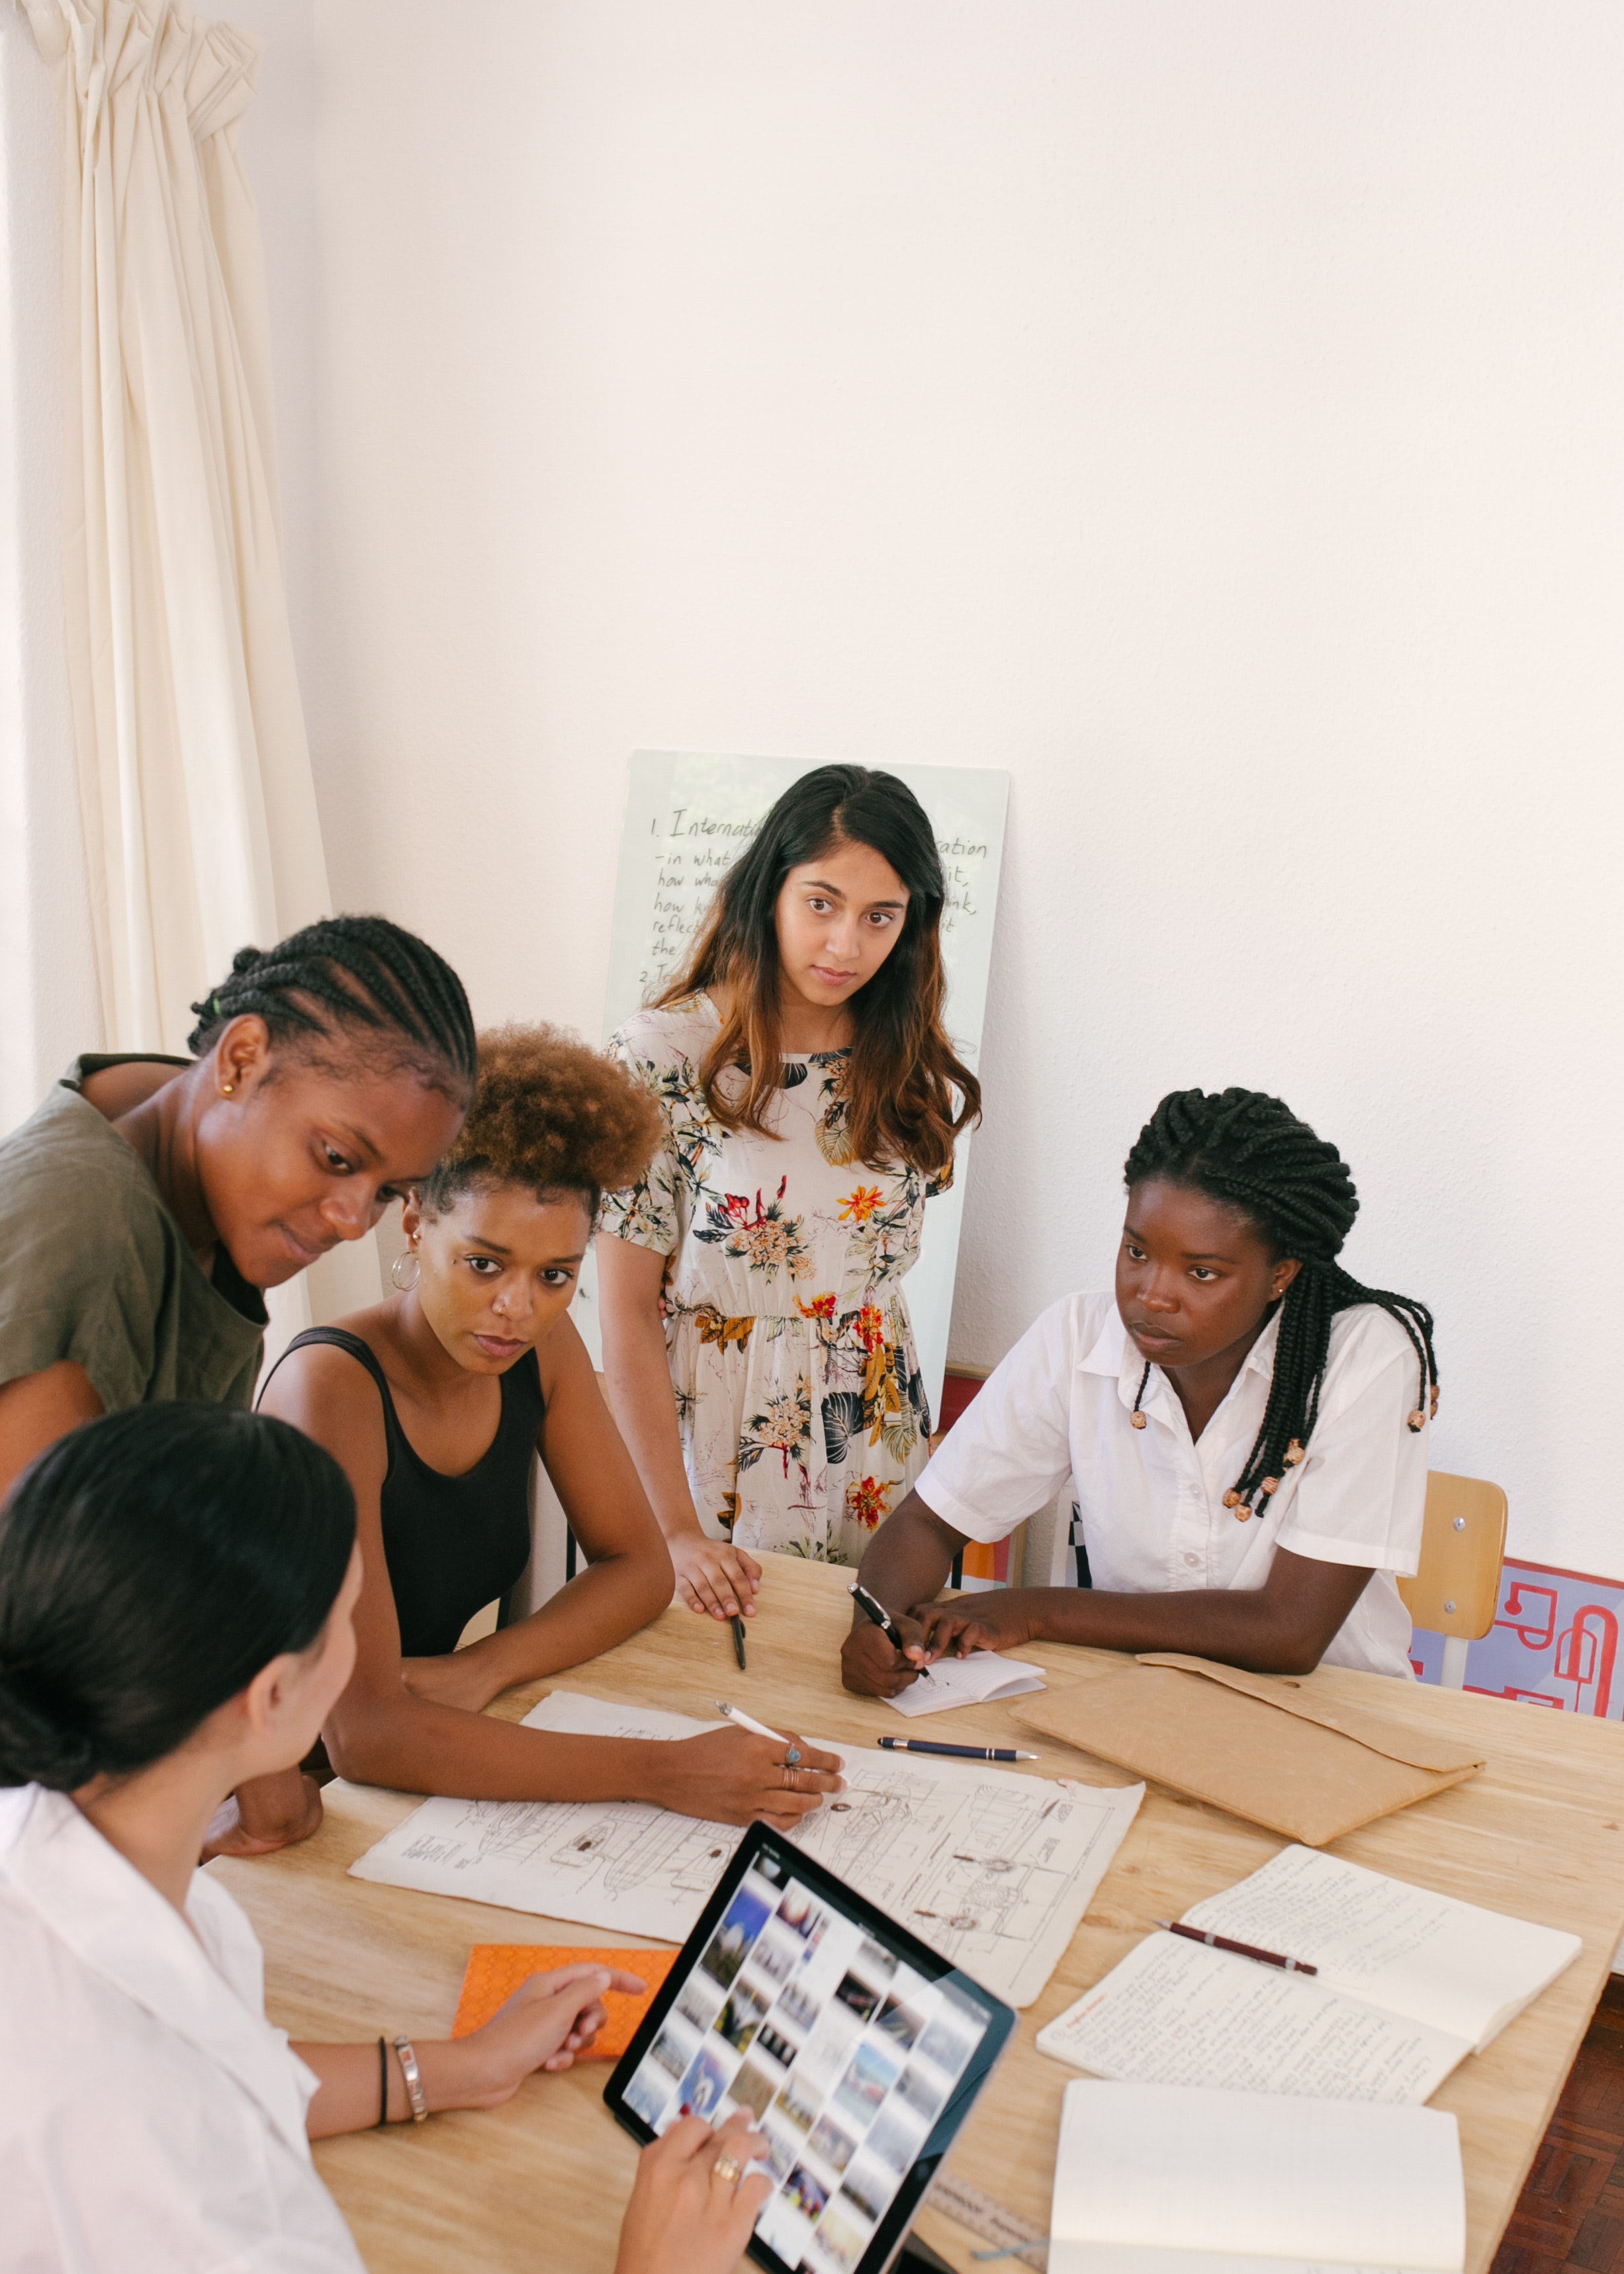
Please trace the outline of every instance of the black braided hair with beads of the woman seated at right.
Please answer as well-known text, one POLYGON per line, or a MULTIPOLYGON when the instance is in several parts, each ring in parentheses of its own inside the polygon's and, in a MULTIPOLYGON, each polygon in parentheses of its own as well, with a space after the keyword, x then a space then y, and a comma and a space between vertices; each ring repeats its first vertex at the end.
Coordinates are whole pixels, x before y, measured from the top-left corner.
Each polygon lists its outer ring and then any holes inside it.
POLYGON ((1408 1426, 1422 1430, 1428 1414, 1437 1412, 1433 1314, 1412 1296, 1362 1287, 1335 1260, 1358 1217, 1353 1178, 1337 1148, 1299 1121, 1281 1098, 1258 1089, 1212 1094, 1174 1089, 1140 1130, 1124 1178, 1128 1185, 1165 1178, 1240 1207, 1276 1255, 1294 1255, 1301 1262, 1281 1296, 1281 1330, 1262 1428, 1240 1476, 1224 1494, 1224 1505, 1242 1524, 1267 1505, 1285 1471, 1306 1458, 1319 1419, 1331 1321, 1340 1310, 1374 1303, 1399 1321, 1415 1351, 1419 1376, 1408 1426))

